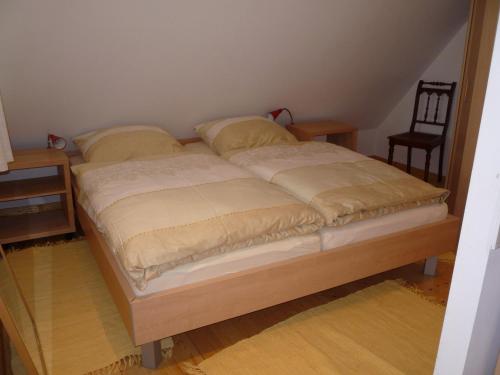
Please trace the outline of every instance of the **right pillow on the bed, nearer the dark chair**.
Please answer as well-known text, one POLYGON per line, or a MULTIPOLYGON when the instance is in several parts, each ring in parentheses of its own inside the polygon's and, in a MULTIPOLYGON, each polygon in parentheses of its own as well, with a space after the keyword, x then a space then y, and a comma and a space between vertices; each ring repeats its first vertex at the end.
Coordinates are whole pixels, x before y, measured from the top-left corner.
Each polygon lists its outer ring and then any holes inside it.
POLYGON ((196 126, 195 130, 219 155, 235 150, 298 142, 277 123, 260 116, 210 121, 196 126))

